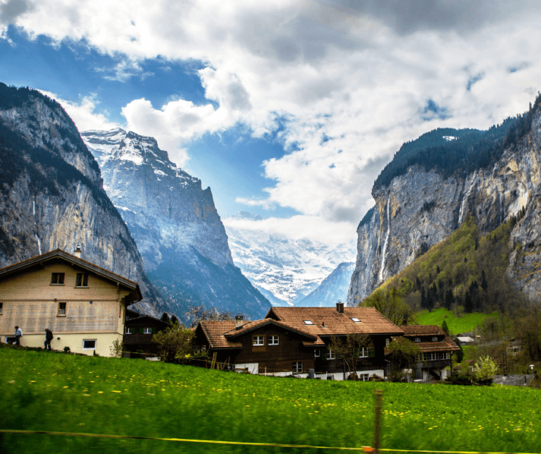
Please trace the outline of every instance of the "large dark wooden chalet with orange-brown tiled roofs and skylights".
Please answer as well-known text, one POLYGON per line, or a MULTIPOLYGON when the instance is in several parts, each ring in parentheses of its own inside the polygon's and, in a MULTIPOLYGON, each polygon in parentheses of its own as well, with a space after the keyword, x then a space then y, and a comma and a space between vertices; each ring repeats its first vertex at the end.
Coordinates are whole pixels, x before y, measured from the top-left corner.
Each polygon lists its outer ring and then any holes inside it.
POLYGON ((212 363, 253 374, 307 376, 310 369, 327 378, 343 379, 344 366, 330 348, 333 336, 363 334, 359 350, 361 379, 385 374, 385 345, 403 331, 373 307, 273 307, 265 319, 200 321, 195 342, 212 363))

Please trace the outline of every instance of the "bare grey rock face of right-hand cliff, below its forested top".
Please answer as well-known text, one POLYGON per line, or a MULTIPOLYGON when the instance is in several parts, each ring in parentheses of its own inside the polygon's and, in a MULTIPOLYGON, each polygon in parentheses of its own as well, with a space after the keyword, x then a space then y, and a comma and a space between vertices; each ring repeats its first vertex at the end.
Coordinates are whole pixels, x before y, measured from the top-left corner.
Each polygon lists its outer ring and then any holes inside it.
MULTIPOLYGON (((541 276, 537 277, 536 264, 540 254, 537 249, 541 246, 537 233, 541 107, 534 106, 529 114, 531 123, 526 133, 511 130, 512 134, 508 133, 505 139, 493 139, 502 152, 490 165, 446 175, 439 168, 427 170, 413 164, 390 179, 390 183, 374 185, 375 207, 358 228, 356 269, 348 305, 358 304, 387 278, 413 262, 416 255, 448 238, 468 213, 474 214, 480 233, 485 234, 523 207, 526 216, 514 228, 511 241, 526 249, 511 255, 507 275, 530 297, 540 292, 541 276)), ((468 159, 473 161, 475 155, 468 159)))

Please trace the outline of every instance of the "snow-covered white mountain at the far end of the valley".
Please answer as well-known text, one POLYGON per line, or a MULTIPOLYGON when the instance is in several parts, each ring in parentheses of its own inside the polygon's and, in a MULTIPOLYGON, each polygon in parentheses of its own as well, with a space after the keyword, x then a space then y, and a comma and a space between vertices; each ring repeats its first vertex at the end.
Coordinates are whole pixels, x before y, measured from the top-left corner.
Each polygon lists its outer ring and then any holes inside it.
POLYGON ((293 240, 258 229, 257 221, 261 216, 240 211, 224 219, 224 224, 233 261, 273 305, 296 305, 339 264, 354 261, 354 242, 330 246, 293 240), (240 226, 239 220, 254 222, 248 228, 240 226))

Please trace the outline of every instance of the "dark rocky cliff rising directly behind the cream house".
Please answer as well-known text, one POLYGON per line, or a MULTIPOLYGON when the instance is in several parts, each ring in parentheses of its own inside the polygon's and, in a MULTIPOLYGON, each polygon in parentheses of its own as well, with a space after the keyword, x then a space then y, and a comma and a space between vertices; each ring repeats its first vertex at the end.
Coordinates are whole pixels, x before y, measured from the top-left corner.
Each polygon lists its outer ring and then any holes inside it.
POLYGON ((61 106, 39 92, 0 85, 0 266, 56 248, 137 281, 139 309, 162 300, 128 228, 101 188, 97 162, 61 106))

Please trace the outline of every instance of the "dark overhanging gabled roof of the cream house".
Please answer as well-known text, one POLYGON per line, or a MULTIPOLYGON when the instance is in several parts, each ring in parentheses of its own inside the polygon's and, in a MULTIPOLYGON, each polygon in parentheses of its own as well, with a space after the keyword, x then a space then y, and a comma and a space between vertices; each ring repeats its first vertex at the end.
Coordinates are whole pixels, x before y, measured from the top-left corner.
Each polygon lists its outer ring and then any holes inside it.
POLYGON ((132 302, 129 302, 128 304, 132 304, 143 299, 141 289, 139 288, 137 282, 130 281, 130 279, 120 276, 119 274, 112 273, 111 271, 101 268, 101 266, 97 266, 91 262, 87 262, 86 260, 80 259, 79 257, 75 257, 75 255, 68 254, 68 252, 65 252, 61 249, 46 252, 45 254, 37 255, 36 257, 23 260, 23 262, 18 262, 0 269, 0 280, 7 276, 11 276, 11 274, 16 274, 20 271, 24 271, 25 269, 28 269, 32 266, 46 264, 46 262, 58 259, 63 260, 64 262, 68 262, 69 264, 75 264, 82 269, 101 276, 102 278, 106 278, 109 281, 118 283, 125 288, 128 288, 128 290, 133 290, 135 292, 135 298, 132 302))

